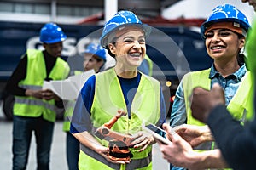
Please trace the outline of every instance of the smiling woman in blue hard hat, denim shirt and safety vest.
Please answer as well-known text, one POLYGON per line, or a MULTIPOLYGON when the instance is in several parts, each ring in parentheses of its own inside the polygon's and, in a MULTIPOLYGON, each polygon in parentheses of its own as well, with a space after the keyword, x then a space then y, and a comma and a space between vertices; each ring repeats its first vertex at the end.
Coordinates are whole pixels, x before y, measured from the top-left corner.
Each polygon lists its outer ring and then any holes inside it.
MULTIPOLYGON (((204 125, 191 116, 189 96, 192 89, 211 89, 218 82, 224 88, 225 102, 232 116, 245 122, 249 111, 247 95, 252 88, 250 72, 241 54, 250 25, 247 17, 236 7, 225 4, 212 10, 207 21, 201 25, 201 37, 205 40, 207 53, 213 59, 210 69, 190 72, 179 84, 172 105, 170 125, 188 123, 204 125)), ((198 150, 211 150, 214 144, 203 144, 198 150)), ((172 167, 171 169, 183 169, 172 167)))

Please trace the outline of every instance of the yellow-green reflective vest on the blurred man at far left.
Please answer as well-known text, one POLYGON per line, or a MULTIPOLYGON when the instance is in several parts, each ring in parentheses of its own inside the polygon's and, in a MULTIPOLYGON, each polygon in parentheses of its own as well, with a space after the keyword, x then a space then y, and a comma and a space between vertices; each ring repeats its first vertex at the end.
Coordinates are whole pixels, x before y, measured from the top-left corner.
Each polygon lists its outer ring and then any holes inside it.
MULTIPOLYGON (((41 50, 27 49, 27 68, 26 78, 19 82, 21 88, 41 89, 46 78, 46 68, 44 55, 41 50)), ((69 66, 67 63, 58 58, 55 66, 49 73, 49 78, 61 80, 67 77, 69 66)), ((33 97, 15 96, 14 105, 15 116, 38 117, 43 115, 44 119, 49 122, 55 122, 55 101, 36 99, 33 97)))

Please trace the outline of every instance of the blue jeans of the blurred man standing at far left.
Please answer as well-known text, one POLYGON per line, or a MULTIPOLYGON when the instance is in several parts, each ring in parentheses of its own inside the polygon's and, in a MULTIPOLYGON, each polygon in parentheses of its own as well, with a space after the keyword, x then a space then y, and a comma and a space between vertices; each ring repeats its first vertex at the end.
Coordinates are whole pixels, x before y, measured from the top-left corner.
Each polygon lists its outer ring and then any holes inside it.
POLYGON ((45 121, 42 116, 14 116, 13 123, 13 170, 26 169, 33 131, 37 143, 37 169, 48 170, 54 122, 45 121))

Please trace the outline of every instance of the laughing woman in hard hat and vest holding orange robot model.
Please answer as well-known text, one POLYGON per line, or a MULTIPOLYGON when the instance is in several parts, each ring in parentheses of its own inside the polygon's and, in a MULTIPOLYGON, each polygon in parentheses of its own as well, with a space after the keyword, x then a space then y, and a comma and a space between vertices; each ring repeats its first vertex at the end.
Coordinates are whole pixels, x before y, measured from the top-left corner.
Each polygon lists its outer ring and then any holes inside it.
POLYGON ((116 65, 85 82, 74 108, 70 131, 81 143, 79 169, 152 169, 154 138, 142 131, 142 122, 160 127, 166 109, 160 82, 137 71, 150 30, 130 11, 120 11, 104 26, 101 44, 116 65), (123 116, 111 130, 123 136, 122 141, 131 139, 132 157, 125 161, 108 156, 108 138, 95 133, 117 114, 123 116))

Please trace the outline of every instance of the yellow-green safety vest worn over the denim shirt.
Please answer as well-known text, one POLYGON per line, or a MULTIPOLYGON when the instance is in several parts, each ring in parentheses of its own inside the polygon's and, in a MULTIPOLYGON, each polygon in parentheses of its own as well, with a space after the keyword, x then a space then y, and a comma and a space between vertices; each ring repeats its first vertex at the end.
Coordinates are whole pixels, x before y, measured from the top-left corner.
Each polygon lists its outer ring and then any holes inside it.
MULTIPOLYGON (((190 110, 189 96, 192 93, 193 88, 201 87, 207 90, 211 88, 211 79, 209 78, 210 69, 204 71, 194 71, 186 74, 183 77, 183 92, 184 99, 187 111, 187 123, 203 126, 204 123, 196 120, 192 117, 190 110)), ((235 96, 231 99, 230 104, 227 106, 227 109, 230 111, 231 115, 241 122, 244 122, 246 117, 245 114, 250 110, 250 100, 247 99, 250 90, 253 88, 251 83, 251 73, 247 71, 244 77, 242 77, 242 82, 239 88, 236 91, 235 96)), ((201 144, 199 147, 196 147, 196 150, 211 150, 214 149, 214 142, 207 142, 201 144)))

